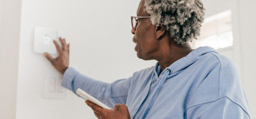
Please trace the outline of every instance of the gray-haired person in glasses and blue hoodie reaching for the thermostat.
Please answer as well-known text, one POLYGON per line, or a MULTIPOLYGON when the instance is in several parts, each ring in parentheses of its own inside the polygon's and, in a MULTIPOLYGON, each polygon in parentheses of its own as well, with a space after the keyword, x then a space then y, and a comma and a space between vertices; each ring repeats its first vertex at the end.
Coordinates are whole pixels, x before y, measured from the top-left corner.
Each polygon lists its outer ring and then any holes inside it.
POLYGON ((199 0, 141 0, 137 17, 131 17, 135 51, 158 62, 113 83, 68 67, 65 39, 62 48, 54 41, 59 57, 44 55, 64 74, 62 86, 74 93, 81 88, 114 108, 86 101, 98 118, 250 118, 232 62, 211 47, 192 50, 188 44, 199 36, 203 16, 199 0))

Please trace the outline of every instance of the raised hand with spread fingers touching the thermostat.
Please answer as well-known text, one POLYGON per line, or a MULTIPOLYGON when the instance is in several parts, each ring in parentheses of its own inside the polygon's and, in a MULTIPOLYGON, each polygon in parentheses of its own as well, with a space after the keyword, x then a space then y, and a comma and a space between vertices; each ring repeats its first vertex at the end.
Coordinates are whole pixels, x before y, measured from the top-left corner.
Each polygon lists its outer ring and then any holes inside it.
POLYGON ((52 58, 49 53, 44 53, 44 56, 51 62, 51 64, 61 73, 64 74, 68 65, 70 64, 70 44, 66 43, 65 38, 61 39, 62 48, 59 46, 56 40, 53 40, 54 45, 56 46, 56 50, 59 54, 57 58, 52 58))

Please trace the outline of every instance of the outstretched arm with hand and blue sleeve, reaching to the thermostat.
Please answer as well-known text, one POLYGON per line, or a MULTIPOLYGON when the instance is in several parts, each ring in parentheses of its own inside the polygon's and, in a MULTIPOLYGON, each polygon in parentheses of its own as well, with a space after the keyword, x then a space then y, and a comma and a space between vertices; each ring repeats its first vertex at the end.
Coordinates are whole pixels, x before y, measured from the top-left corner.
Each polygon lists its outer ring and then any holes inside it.
POLYGON ((62 47, 53 40, 56 50, 59 54, 57 58, 52 58, 49 53, 44 53, 45 57, 51 64, 61 73, 64 74, 61 85, 72 90, 74 93, 78 88, 85 90, 88 94, 113 108, 116 103, 126 104, 129 86, 131 79, 120 79, 113 83, 105 83, 102 81, 88 78, 75 71, 73 68, 68 68, 70 44, 66 44, 66 40, 59 38, 62 47))

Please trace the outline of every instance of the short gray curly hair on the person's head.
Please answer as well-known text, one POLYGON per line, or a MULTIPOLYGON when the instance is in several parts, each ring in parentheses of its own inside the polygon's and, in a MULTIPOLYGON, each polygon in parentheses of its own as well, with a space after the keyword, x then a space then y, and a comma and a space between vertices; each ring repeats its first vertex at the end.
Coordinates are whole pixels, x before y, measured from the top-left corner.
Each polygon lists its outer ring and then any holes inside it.
POLYGON ((204 21, 200 0, 145 0, 146 12, 153 25, 166 26, 177 44, 197 39, 204 21))

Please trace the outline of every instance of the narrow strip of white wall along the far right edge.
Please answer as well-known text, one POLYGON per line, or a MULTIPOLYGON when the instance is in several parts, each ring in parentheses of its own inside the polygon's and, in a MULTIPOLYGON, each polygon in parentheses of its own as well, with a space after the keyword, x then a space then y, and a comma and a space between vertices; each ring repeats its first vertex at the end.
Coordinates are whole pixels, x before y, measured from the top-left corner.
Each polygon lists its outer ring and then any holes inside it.
POLYGON ((252 118, 256 118, 256 1, 239 0, 241 61, 244 88, 250 104, 252 118))

